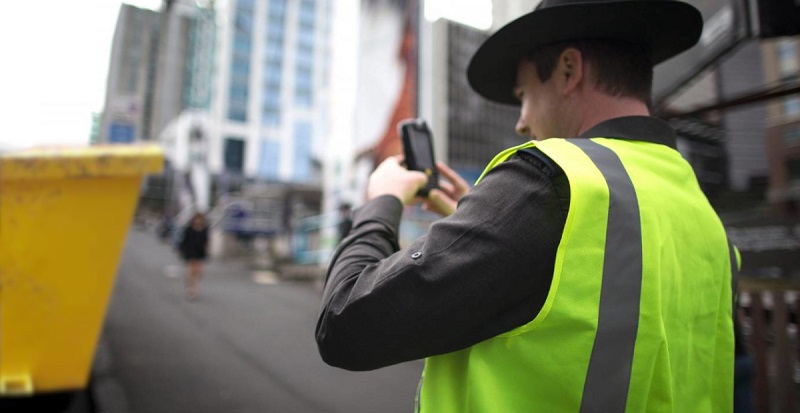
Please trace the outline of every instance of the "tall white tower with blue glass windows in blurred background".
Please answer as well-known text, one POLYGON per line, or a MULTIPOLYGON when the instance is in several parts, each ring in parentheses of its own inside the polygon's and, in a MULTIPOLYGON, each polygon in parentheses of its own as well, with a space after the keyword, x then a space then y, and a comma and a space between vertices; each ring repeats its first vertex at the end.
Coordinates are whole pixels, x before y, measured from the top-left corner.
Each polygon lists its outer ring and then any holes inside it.
POLYGON ((330 0, 217 3, 213 173, 319 184, 327 129, 330 0))

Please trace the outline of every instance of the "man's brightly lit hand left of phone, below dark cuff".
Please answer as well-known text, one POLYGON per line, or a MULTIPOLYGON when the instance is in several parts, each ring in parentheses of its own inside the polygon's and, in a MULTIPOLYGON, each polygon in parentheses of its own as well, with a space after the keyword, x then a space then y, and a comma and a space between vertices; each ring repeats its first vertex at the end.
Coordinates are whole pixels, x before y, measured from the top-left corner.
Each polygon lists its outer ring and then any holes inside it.
POLYGON ((414 200, 417 191, 428 182, 428 177, 420 171, 404 168, 400 165, 400 159, 399 156, 390 156, 372 172, 367 184, 367 200, 381 195, 393 195, 403 205, 414 200))

